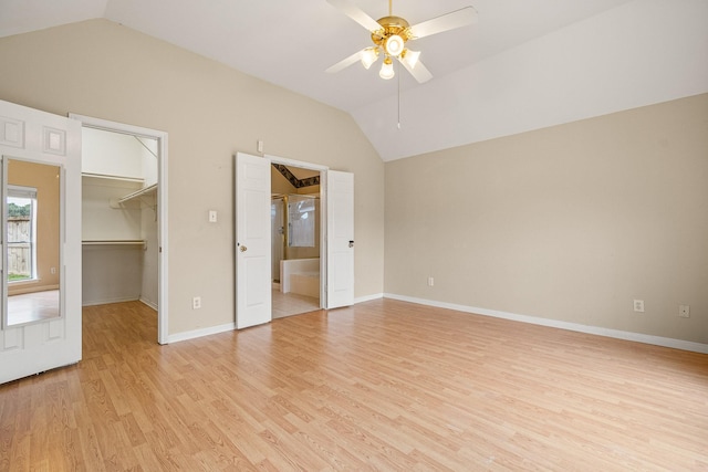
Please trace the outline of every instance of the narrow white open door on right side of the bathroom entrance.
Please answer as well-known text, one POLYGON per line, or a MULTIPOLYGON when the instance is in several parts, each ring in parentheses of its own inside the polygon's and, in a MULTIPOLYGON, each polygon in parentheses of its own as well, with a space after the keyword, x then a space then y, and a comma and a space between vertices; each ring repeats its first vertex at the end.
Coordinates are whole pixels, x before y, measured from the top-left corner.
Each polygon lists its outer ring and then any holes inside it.
POLYGON ((326 171, 326 307, 354 304, 354 175, 326 171))

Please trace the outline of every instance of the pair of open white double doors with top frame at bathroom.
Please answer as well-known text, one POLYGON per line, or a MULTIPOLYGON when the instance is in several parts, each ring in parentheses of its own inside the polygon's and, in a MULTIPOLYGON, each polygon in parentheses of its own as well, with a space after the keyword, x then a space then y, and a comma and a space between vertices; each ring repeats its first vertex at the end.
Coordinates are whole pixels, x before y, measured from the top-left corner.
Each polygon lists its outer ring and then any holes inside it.
POLYGON ((268 155, 237 153, 235 159, 236 328, 264 324, 273 317, 271 164, 320 172, 320 307, 353 305, 354 175, 268 155))

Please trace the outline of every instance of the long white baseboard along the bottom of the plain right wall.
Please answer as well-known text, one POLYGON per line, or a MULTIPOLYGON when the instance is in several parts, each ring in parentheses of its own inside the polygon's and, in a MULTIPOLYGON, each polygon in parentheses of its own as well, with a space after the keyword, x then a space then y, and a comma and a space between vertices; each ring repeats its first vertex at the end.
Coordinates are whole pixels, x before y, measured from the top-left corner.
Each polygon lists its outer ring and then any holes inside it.
POLYGON ((475 306, 457 305, 455 303, 446 303, 446 302, 436 302, 434 300, 416 298, 412 296, 396 295, 393 293, 385 293, 384 298, 399 300, 402 302, 410 302, 410 303, 417 303, 419 305, 436 306, 438 308, 455 310, 457 312, 472 313, 476 315, 492 316, 496 318, 511 319, 514 322, 530 323, 533 325, 549 326, 553 328, 574 331, 579 333, 613 337, 616 339, 634 340, 636 343, 653 344, 655 346, 671 347, 674 349, 708 354, 708 344, 694 343, 690 340, 674 339, 670 337, 653 336, 648 334, 625 332, 620 329, 610 329, 610 328, 603 328, 598 326, 581 325, 577 323, 540 318, 538 316, 519 315, 516 313, 499 312, 496 310, 477 308, 475 306))

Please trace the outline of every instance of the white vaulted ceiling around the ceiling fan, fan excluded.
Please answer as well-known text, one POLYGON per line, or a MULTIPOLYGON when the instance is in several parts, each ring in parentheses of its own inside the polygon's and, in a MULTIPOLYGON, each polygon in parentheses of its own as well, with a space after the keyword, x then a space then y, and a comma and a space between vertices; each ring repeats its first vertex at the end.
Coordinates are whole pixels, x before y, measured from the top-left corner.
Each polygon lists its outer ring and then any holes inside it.
MULTIPOLYGON (((388 14, 386 0, 352 1, 388 14)), ((358 63, 325 73, 371 44, 325 0, 2 0, 0 36, 105 18, 352 114, 384 160, 708 88, 705 0, 393 0, 393 12, 415 24, 467 6, 476 24, 415 42, 425 84, 358 63)))

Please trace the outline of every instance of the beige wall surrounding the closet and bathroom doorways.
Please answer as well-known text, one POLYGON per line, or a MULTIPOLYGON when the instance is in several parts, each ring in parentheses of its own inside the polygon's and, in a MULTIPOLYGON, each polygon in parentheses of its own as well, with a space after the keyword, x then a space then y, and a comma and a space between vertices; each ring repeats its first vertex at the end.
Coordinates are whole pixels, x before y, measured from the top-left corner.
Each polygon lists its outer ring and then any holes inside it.
POLYGON ((383 292, 384 165, 347 114, 106 20, 0 39, 0 57, 1 99, 169 133, 170 334, 233 321, 232 156, 259 139, 354 172, 355 296, 383 292))

